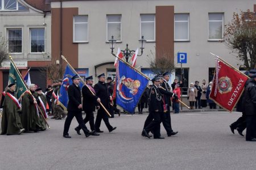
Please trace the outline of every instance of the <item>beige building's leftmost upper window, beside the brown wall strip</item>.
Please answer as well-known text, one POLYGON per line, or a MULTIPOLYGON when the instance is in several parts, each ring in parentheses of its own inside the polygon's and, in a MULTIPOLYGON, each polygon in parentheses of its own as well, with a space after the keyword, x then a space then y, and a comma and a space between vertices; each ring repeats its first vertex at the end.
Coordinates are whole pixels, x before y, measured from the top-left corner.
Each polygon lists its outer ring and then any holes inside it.
POLYGON ((88 42, 88 15, 74 16, 73 42, 88 42))

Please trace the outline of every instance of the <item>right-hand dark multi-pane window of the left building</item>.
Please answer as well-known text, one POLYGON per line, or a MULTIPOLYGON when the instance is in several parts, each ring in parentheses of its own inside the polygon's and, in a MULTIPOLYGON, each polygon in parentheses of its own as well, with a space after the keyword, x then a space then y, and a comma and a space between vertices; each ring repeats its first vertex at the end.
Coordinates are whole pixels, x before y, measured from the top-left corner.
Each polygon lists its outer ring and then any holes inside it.
POLYGON ((44 53, 44 28, 30 28, 31 53, 44 53))

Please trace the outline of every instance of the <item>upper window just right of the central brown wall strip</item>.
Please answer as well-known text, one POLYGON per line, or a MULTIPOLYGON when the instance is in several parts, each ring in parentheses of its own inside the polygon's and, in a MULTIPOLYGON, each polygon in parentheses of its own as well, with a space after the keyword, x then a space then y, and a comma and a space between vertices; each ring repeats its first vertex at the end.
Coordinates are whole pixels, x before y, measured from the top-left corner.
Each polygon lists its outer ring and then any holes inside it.
POLYGON ((174 40, 189 40, 189 14, 174 14, 174 40))

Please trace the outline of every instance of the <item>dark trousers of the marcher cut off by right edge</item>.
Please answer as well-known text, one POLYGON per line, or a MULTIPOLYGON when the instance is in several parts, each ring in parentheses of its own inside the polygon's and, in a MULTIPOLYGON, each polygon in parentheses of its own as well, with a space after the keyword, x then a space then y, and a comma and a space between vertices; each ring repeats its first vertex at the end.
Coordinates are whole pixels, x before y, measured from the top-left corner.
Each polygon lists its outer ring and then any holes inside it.
POLYGON ((256 138, 256 115, 246 115, 246 141, 256 138))

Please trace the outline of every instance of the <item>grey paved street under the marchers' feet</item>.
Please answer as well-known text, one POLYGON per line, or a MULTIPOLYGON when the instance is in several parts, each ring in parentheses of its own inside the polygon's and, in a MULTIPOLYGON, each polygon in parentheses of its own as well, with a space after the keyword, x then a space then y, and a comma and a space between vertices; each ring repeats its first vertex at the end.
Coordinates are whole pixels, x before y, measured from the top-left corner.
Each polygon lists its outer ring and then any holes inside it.
MULTIPOLYGON (((172 114, 174 137, 141 136, 147 113, 122 114, 102 122, 99 137, 62 137, 65 120, 49 120, 51 129, 39 133, 1 135, 1 169, 256 169, 256 142, 232 134, 229 124, 241 113, 185 112, 172 114)), ((88 127, 88 125, 87 125, 88 127)), ((236 131, 237 132, 237 131, 236 131)), ((243 132, 245 134, 245 131, 243 132)))

